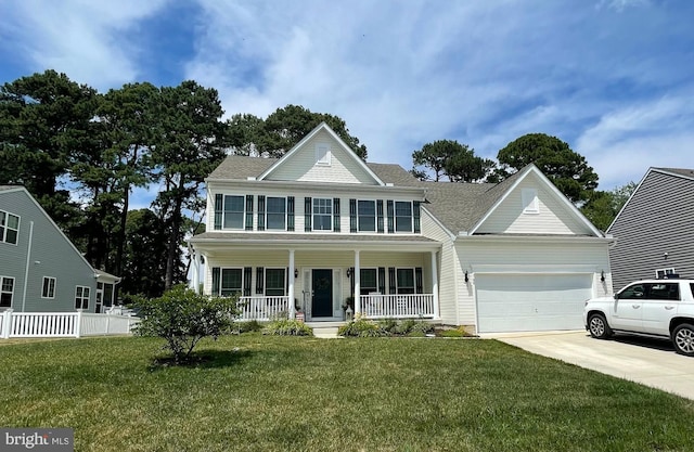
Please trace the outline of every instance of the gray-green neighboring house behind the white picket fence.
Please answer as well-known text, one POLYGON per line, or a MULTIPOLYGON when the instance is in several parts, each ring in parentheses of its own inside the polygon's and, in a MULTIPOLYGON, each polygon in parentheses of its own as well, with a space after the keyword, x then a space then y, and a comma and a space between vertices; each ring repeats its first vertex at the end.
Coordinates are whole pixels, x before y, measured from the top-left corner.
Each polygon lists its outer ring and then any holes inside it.
POLYGON ((25 188, 0 185, 0 311, 100 312, 118 281, 95 271, 25 188))

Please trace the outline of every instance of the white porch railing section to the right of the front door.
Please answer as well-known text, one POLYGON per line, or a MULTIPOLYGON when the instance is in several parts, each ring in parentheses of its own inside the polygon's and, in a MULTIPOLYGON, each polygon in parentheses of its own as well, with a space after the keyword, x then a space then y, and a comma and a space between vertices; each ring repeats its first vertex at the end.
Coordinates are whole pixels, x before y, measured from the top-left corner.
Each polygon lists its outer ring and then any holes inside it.
POLYGON ((361 312, 372 319, 378 318, 434 318, 434 295, 362 295, 359 297, 361 312))

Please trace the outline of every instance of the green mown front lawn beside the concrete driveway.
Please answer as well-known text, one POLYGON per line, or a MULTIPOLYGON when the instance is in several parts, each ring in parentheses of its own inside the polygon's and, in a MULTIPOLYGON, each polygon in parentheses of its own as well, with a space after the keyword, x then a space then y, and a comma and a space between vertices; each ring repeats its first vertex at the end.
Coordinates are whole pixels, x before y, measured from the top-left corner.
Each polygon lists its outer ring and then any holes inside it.
POLYGON ((72 427, 78 451, 691 451, 694 402, 494 340, 162 341, 0 347, 0 426, 72 427))

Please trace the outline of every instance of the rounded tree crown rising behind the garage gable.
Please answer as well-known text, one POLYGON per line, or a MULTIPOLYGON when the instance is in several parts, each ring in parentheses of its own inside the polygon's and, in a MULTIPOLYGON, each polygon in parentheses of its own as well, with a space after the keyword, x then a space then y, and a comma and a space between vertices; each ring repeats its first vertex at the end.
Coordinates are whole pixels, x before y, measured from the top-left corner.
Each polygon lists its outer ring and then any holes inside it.
POLYGON ((587 202, 597 186, 597 175, 586 158, 556 137, 528 133, 499 151, 501 177, 535 164, 573 203, 587 202))

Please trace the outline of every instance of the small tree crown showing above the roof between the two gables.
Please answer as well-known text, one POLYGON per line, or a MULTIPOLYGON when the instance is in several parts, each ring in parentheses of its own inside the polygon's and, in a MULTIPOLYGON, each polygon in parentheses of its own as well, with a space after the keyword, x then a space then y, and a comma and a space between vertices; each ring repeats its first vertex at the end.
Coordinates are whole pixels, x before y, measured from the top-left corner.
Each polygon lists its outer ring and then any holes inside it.
POLYGON ((440 181, 446 176, 451 182, 477 182, 483 180, 494 168, 492 160, 475 155, 475 150, 467 144, 454 140, 438 140, 427 143, 421 150, 412 153, 415 168, 412 175, 422 179, 424 167, 434 171, 434 180, 440 181))

